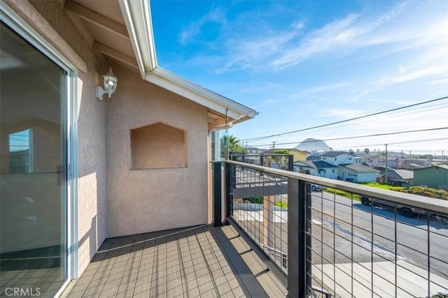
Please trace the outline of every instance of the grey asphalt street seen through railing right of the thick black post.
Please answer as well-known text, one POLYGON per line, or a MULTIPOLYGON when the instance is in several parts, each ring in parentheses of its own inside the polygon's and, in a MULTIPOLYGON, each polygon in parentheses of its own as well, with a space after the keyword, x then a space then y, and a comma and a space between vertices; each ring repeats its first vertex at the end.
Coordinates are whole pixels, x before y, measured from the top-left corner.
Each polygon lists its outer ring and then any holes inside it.
MULTIPOLYGON (((314 192, 311 202, 314 247, 319 248, 321 239, 329 245, 321 245, 323 249, 317 251, 319 255, 325 255, 325 248, 331 253, 335 247, 339 255, 335 262, 350 258, 356 262, 370 262, 369 258, 379 262, 393 261, 396 253, 397 260, 422 269, 428 269, 429 261, 431 272, 448 276, 448 221, 427 216, 407 218, 400 214, 395 218, 391 210, 364 206, 326 192, 314 192), (335 237, 331 237, 332 234, 335 237)), ((328 261, 332 261, 331 258, 328 261)))

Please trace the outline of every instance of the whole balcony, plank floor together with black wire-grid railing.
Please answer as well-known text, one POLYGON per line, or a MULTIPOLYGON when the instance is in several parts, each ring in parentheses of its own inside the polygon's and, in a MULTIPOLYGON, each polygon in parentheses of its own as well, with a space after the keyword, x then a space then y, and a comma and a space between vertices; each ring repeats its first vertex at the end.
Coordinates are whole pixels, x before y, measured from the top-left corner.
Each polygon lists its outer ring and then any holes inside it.
POLYGON ((213 226, 107 239, 69 295, 448 295, 448 202, 237 161, 212 165, 213 226))

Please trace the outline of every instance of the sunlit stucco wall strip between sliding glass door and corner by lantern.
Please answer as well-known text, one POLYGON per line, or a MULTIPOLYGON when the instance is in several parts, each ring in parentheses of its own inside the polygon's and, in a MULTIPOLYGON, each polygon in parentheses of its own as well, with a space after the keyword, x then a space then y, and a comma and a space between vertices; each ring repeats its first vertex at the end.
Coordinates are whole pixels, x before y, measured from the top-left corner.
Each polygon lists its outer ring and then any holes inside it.
POLYGON ((105 105, 95 99, 106 69, 76 31, 61 1, 5 0, 22 20, 78 70, 78 269, 87 267, 106 238, 105 105))

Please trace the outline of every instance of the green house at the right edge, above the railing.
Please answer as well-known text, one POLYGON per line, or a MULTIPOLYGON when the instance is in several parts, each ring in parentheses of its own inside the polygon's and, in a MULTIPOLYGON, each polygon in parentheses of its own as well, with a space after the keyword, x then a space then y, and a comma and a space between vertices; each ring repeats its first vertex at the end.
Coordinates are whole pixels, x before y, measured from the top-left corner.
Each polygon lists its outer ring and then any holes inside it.
POLYGON ((414 185, 448 190, 448 165, 433 165, 414 170, 414 185))

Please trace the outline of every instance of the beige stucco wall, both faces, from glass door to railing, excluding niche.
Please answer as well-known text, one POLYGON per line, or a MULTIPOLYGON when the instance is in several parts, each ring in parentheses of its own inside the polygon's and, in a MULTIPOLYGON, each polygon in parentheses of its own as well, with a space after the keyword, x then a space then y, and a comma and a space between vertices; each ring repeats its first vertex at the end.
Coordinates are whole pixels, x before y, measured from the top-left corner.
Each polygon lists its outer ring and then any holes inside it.
POLYGON ((106 237, 207 223, 207 108, 113 63, 116 94, 97 100, 106 61, 63 1, 4 2, 77 71, 79 273, 106 237), (188 166, 131 170, 130 130, 158 122, 186 131, 188 166))

